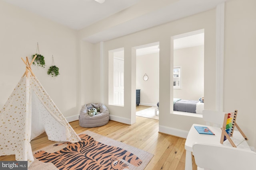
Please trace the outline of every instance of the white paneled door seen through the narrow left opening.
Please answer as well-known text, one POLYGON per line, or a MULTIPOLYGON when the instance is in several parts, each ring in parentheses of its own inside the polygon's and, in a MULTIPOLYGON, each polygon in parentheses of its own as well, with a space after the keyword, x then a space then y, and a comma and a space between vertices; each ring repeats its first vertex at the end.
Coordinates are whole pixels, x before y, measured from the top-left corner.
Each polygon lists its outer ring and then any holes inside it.
POLYGON ((124 106, 124 60, 114 58, 114 104, 124 106))

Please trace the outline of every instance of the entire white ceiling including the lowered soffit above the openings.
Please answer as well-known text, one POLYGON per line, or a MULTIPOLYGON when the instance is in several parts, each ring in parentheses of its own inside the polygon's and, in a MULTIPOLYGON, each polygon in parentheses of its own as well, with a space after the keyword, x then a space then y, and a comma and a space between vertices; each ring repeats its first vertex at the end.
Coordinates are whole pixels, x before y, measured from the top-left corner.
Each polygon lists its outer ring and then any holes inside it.
POLYGON ((226 0, 105 0, 102 4, 94 0, 4 1, 71 29, 92 32, 82 39, 98 43, 213 9, 226 0), (127 13, 130 18, 126 15, 126 20, 111 27, 86 30, 90 25, 127 13))

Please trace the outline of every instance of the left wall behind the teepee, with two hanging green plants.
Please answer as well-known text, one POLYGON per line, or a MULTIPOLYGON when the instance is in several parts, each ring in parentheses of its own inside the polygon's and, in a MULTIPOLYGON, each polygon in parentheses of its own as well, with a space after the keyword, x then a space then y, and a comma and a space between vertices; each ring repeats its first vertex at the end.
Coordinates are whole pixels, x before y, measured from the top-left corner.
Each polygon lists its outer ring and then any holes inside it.
MULTIPOLYGON (((0 1, 0 107, 25 72, 25 59, 36 53, 44 55, 46 67, 32 66, 52 100, 65 117, 77 114, 78 102, 78 49, 77 32, 50 20, 0 1), (52 78, 47 74, 52 64, 60 69, 60 75, 52 78)), ((73 118, 73 117, 72 117, 73 118)), ((77 119, 77 116, 75 116, 77 119)))

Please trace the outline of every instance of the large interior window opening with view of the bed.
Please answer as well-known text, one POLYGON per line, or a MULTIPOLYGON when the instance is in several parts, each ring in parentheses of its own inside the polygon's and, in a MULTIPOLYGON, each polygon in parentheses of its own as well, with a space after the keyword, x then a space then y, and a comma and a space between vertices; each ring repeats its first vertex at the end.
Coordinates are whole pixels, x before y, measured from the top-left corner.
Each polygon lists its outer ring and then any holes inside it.
POLYGON ((171 80, 173 86, 170 88, 173 92, 173 113, 202 117, 204 109, 204 29, 175 35, 172 41, 171 80))

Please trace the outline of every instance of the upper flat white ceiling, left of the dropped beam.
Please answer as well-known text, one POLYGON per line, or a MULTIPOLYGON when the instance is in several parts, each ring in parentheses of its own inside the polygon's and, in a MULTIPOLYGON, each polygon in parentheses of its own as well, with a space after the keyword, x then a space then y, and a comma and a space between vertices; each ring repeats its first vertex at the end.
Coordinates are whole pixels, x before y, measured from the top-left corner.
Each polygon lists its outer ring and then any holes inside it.
POLYGON ((66 25, 82 29, 138 3, 140 0, 5 0, 6 2, 66 25))

